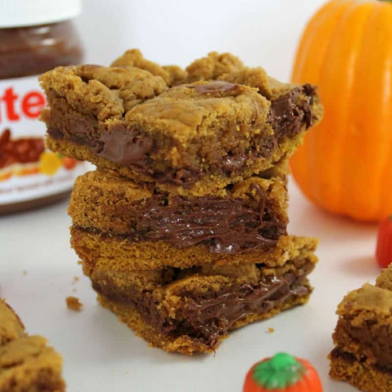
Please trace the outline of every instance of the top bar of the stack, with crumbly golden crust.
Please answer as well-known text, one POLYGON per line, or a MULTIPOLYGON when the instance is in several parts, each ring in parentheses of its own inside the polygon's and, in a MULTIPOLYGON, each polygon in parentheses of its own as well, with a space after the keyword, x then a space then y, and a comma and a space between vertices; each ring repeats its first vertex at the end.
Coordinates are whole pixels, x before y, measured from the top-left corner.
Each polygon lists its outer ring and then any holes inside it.
POLYGON ((283 175, 322 116, 315 87, 227 66, 226 57, 207 61, 212 68, 198 60, 184 79, 174 66, 159 75, 130 57, 116 60, 120 67, 59 67, 41 76, 49 148, 164 191, 204 196, 253 174, 268 177, 278 163, 283 175), (209 77, 221 80, 170 87, 209 77))

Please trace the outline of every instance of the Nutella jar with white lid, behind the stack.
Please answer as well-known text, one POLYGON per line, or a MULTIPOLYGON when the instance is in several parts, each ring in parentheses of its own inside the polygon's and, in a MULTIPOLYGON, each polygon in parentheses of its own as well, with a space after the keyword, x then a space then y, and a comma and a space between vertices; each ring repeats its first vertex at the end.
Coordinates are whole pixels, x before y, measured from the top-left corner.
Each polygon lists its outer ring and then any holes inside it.
POLYGON ((0 214, 69 195, 84 164, 45 148, 41 73, 78 64, 80 0, 0 0, 0 214))

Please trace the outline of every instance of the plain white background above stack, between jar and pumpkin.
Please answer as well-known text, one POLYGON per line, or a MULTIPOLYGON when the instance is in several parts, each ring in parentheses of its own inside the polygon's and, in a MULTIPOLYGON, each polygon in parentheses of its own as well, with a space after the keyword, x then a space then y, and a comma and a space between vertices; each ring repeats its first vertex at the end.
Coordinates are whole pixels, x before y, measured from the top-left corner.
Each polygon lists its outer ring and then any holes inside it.
POLYGON ((84 0, 77 25, 86 61, 109 65, 139 48, 185 67, 212 50, 231 51, 287 81, 301 31, 324 0, 84 0))

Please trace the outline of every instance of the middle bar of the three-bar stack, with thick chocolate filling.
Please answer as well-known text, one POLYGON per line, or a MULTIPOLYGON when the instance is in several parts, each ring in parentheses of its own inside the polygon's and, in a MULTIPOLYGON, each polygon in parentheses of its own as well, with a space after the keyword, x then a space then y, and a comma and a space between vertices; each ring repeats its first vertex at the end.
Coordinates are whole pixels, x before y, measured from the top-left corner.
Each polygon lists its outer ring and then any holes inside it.
POLYGON ((253 176, 208 196, 172 196, 97 170, 76 179, 69 214, 82 259, 189 267, 275 245, 287 234, 287 190, 253 176))

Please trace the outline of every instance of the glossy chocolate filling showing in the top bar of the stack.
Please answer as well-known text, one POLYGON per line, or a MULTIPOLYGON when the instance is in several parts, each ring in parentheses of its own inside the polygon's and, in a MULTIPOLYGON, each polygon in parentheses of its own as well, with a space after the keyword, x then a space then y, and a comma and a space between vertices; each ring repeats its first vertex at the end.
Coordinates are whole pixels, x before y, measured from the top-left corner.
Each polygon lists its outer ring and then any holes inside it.
MULTIPOLYGON (((227 82, 211 82, 192 88, 200 93, 219 96, 226 93, 234 94, 238 86, 227 82)), ((295 136, 303 126, 306 129, 312 126, 314 123, 312 104, 315 94, 315 87, 305 84, 272 100, 268 122, 274 130, 273 135, 264 138, 257 148, 254 146, 248 150, 230 151, 221 159, 220 164, 215 165, 211 170, 214 173, 225 175, 241 172, 249 158, 269 157, 283 138, 295 136), (299 99, 300 94, 306 98, 299 99)), ((83 126, 85 125, 80 124, 77 128, 83 126)), ((82 129, 79 129, 75 134, 68 134, 57 127, 49 126, 48 134, 54 139, 66 137, 76 144, 87 145, 97 155, 118 165, 129 166, 137 172, 152 176, 159 183, 191 187, 203 175, 203 172, 197 167, 179 169, 166 167, 164 170, 156 170, 150 154, 158 146, 151 136, 143 133, 142 129, 128 129, 125 125, 119 124, 110 129, 102 129, 100 137, 94 138, 89 132, 83 132, 82 129)))

